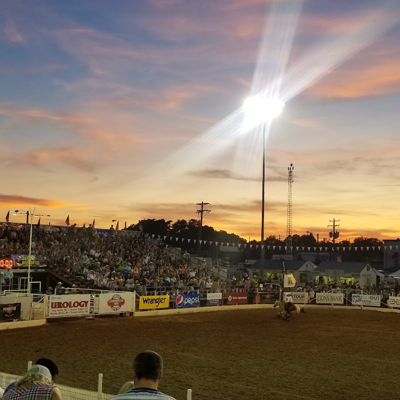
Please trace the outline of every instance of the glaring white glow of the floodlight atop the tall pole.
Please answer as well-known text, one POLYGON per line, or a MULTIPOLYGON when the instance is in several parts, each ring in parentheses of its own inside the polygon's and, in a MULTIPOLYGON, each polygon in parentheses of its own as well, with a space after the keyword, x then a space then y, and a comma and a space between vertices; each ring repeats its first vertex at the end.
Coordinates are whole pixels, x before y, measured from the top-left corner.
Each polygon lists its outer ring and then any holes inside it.
POLYGON ((243 104, 244 119, 242 131, 245 132, 262 122, 271 121, 283 110, 284 102, 278 98, 263 95, 247 97, 243 104))

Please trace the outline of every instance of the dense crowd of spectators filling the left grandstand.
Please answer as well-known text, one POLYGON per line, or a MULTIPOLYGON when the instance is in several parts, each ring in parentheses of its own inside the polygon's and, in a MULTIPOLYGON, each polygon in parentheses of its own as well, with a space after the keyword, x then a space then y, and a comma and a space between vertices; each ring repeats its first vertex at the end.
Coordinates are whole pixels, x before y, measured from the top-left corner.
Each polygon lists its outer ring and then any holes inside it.
MULTIPOLYGON (((84 285, 136 290, 140 294, 218 291, 227 285, 226 281, 208 273, 205 260, 192 265, 186 254, 169 253, 143 237, 118 231, 111 233, 92 234, 91 227, 71 226, 64 232, 36 227, 31 242, 31 253, 36 259, 34 267, 46 265, 66 277, 80 276, 84 285)), ((28 250, 29 231, 3 230, 0 256, 28 254, 28 250)), ((247 284, 244 279, 239 283, 247 284)), ((56 288, 63 289, 62 283, 56 288)), ((47 289, 47 292, 53 290, 47 289)))

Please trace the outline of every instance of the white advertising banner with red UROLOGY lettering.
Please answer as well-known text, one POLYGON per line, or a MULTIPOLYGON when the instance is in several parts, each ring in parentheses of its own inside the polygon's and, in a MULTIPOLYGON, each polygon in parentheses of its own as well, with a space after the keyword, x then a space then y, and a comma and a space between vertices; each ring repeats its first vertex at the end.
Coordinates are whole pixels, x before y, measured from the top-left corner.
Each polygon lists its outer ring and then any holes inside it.
POLYGON ((60 294, 48 296, 48 316, 90 314, 90 294, 60 294))

